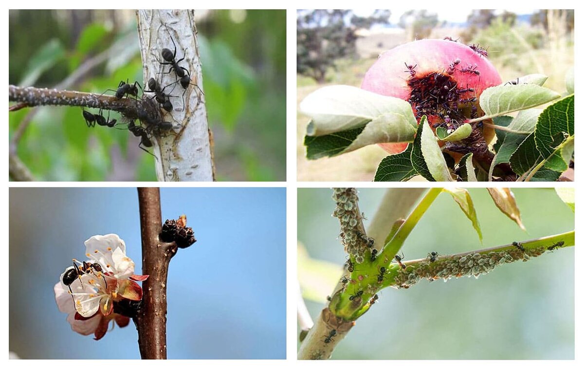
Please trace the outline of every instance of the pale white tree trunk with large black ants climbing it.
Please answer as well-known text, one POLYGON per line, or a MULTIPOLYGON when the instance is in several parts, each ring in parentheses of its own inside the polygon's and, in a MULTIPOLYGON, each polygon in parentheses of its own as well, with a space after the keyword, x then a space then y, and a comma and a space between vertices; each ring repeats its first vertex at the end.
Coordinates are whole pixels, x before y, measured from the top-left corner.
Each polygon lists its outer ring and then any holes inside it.
MULTIPOLYGON (((171 65, 161 68, 162 48, 173 51, 176 44, 176 57, 179 66, 189 70, 190 82, 203 90, 197 28, 194 24, 194 11, 189 10, 140 10, 137 11, 138 36, 144 67, 144 89, 148 79, 155 78, 161 88, 177 81, 174 71, 168 72, 171 65), (168 28, 168 32, 166 29, 168 28), (171 40, 172 36, 172 40, 171 40), (157 60, 158 59, 158 60, 157 60)), ((171 121, 173 130, 168 133, 154 134, 154 155, 156 174, 159 181, 211 181, 214 180, 211 131, 207 125, 205 97, 194 85, 182 88, 180 83, 164 90, 171 97, 173 110, 161 109, 162 120, 171 121), (183 92, 184 99, 183 99, 183 92), (185 101, 183 105, 183 100, 185 101)), ((154 96, 154 93, 147 93, 154 96)))

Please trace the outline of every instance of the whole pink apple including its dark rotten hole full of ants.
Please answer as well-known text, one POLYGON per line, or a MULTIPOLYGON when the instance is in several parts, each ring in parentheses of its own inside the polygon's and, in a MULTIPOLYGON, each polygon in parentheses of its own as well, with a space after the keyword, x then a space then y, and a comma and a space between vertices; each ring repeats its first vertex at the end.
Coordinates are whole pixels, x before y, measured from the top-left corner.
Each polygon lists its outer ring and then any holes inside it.
MULTIPOLYGON (((381 54, 365 74, 361 88, 407 100, 418 122, 427 116, 430 126, 451 132, 468 119, 482 116, 479 96, 501 83, 485 54, 456 41, 413 41, 381 54)), ((482 135, 488 143, 495 134, 492 128, 485 128, 482 135)), ((407 144, 380 146, 397 154, 407 144)))

